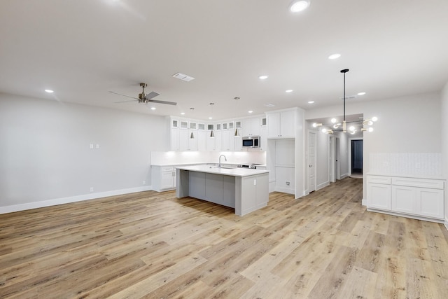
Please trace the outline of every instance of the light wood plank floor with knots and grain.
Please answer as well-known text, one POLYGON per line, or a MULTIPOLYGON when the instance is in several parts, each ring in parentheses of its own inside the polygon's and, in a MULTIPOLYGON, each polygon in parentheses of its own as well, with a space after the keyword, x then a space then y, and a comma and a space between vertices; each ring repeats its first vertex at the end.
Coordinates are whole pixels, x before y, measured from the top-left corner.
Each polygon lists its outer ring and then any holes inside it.
POLYGON ((0 298, 448 298, 443 225, 365 211, 362 180, 264 209, 148 191, 0 215, 0 298))

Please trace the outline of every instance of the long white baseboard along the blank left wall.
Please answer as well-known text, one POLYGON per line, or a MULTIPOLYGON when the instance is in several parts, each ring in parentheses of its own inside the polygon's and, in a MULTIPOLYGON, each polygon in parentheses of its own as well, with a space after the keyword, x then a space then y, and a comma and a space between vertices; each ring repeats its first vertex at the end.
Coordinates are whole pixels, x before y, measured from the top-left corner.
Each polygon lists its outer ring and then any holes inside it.
POLYGON ((37 209, 41 207, 50 207, 57 204, 68 204, 70 202, 80 202, 83 200, 94 200, 95 198, 108 197, 114 195, 122 195, 128 193, 136 193, 142 191, 152 190, 152 186, 143 186, 136 188, 111 190, 99 193, 88 193, 83 195, 55 198, 53 200, 43 200, 41 202, 27 202, 25 204, 13 204, 11 206, 0 207, 0 214, 11 213, 14 211, 25 211, 27 209, 37 209))

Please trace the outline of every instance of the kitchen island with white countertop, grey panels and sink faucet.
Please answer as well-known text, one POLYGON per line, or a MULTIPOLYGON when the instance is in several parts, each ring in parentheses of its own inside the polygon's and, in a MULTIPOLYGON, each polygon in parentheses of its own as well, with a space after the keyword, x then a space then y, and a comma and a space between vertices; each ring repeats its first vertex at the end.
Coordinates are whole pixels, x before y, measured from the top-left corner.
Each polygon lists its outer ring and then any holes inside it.
POLYGON ((235 209, 243 216, 269 201, 269 172, 211 165, 177 167, 176 197, 195 197, 235 209))

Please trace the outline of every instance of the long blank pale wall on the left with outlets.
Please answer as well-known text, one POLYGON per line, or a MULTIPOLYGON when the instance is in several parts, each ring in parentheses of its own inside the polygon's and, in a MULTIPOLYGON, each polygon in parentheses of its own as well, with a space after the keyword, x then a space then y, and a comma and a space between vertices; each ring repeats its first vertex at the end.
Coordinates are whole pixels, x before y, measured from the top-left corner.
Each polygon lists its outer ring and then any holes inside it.
POLYGON ((2 94, 0 212, 148 190, 167 138, 162 117, 2 94))

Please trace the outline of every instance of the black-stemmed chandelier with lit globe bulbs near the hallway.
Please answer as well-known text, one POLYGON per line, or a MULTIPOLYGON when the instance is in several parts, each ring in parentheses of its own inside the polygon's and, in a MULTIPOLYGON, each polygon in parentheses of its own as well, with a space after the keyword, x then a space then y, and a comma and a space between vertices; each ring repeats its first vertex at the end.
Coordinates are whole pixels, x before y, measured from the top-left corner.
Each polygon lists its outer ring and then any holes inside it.
POLYGON ((349 132, 350 134, 355 134, 358 131, 361 132, 373 132, 373 123, 378 120, 376 116, 371 119, 360 119, 354 120, 349 123, 345 120, 345 73, 349 71, 349 69, 342 69, 341 73, 344 74, 344 118, 342 123, 339 123, 336 118, 331 119, 330 124, 322 124, 322 123, 314 123, 313 127, 322 127, 321 131, 326 134, 333 134, 334 132, 349 132))

